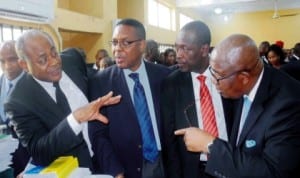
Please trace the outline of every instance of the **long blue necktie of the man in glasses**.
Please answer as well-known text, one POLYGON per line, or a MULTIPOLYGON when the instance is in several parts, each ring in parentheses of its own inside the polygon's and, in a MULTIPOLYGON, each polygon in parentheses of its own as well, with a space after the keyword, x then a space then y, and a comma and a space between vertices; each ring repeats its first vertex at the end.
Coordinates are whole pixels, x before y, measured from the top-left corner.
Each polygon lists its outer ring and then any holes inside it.
POLYGON ((143 138, 143 156, 146 160, 153 163, 158 157, 158 150, 155 142, 145 91, 143 85, 140 83, 138 73, 131 73, 129 74, 129 77, 135 82, 133 88, 133 99, 143 138))

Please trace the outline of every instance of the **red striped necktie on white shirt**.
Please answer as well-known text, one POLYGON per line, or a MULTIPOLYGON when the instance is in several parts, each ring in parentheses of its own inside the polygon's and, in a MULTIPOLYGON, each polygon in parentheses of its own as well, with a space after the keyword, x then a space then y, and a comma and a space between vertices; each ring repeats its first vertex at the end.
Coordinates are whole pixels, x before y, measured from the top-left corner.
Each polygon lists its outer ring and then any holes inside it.
POLYGON ((197 77, 200 81, 200 110, 202 114, 203 129, 215 137, 218 137, 218 128, 215 117, 215 110, 208 88, 205 84, 206 77, 197 77))

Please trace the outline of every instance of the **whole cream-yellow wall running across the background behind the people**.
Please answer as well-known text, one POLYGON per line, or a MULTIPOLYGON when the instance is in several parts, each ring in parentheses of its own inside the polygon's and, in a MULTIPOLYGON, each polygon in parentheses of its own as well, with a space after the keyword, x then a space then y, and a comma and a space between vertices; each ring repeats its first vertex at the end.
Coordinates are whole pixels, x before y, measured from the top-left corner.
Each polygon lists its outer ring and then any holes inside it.
MULTIPOLYGON (((136 18, 143 22, 147 38, 160 43, 174 44, 177 31, 168 31, 147 25, 147 0, 55 0, 55 19, 50 25, 25 23, 0 18, 0 23, 26 26, 49 32, 54 38, 58 49, 65 47, 81 47, 87 52, 88 62, 94 62, 98 49, 105 48, 111 54, 108 41, 112 36, 112 23, 119 18, 136 18), (88 4, 87 4, 88 3, 88 4), (81 7, 84 7, 81 9, 81 7), (84 14, 83 14, 84 13, 84 14), (87 13, 87 14, 85 14, 87 13)), ((174 1, 168 0, 168 5, 175 7, 174 1)), ((199 17, 191 11, 176 9, 177 30, 179 30, 178 15, 180 12, 194 19, 202 19, 212 31, 212 45, 232 33, 250 35, 257 43, 268 40, 271 43, 283 40, 285 48, 291 48, 299 42, 300 15, 272 19, 273 12, 256 12, 234 14, 225 23, 221 17, 199 17)), ((280 14, 300 12, 300 9, 280 11, 280 14)))

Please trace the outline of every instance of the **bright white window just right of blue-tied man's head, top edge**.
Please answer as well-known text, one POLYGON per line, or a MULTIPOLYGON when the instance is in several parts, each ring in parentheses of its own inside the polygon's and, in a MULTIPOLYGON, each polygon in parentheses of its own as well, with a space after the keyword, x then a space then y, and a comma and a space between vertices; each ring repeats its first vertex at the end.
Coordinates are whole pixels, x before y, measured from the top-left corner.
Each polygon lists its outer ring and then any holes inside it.
POLYGON ((175 10, 156 0, 148 0, 148 23, 156 27, 175 31, 175 10))

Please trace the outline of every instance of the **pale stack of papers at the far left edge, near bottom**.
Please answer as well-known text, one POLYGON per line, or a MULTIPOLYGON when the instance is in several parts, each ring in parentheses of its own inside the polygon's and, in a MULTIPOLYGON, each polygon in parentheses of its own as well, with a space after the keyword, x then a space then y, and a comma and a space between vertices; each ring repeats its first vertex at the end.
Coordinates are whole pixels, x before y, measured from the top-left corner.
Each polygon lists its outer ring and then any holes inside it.
POLYGON ((11 153, 18 148, 19 141, 11 135, 0 134, 0 172, 9 168, 11 153))

